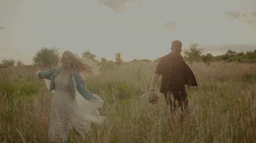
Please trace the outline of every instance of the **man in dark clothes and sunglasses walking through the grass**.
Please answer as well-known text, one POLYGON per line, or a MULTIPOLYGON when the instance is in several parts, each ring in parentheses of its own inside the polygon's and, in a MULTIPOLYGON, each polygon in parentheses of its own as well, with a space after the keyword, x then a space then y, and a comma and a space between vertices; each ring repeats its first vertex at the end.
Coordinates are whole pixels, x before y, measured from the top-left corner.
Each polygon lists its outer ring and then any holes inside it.
POLYGON ((188 113, 188 97, 185 85, 190 90, 190 86, 197 86, 197 83, 193 72, 181 55, 182 42, 179 40, 172 41, 171 51, 170 54, 160 59, 149 91, 155 90, 155 83, 162 75, 160 92, 165 96, 172 120, 177 108, 181 108, 182 115, 188 113))

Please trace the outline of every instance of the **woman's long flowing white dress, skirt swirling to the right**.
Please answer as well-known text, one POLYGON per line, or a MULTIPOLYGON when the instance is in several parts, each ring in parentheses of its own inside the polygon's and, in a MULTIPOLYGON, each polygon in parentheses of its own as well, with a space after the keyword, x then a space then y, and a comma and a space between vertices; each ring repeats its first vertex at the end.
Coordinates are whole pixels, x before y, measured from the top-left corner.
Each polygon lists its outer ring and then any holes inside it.
MULTIPOLYGON (((83 105, 78 105, 77 98, 74 100, 71 92, 69 92, 69 78, 62 78, 61 74, 58 74, 55 79, 55 88, 51 100, 49 125, 49 138, 51 141, 65 141, 70 128, 74 128, 84 138, 90 129, 91 122, 101 123, 105 119, 95 110, 101 105, 95 105, 84 99, 82 101, 83 105)), ((81 95, 77 94, 77 96, 81 95)), ((82 100, 81 97, 80 100, 82 100)))

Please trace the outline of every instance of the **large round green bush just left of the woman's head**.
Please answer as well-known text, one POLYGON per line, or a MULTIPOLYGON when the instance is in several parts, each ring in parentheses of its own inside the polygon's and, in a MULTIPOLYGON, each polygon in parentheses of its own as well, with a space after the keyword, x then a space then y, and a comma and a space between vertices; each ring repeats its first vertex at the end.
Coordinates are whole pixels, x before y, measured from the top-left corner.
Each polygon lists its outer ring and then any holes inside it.
POLYGON ((53 67, 60 61, 59 48, 43 47, 32 58, 33 65, 38 65, 44 68, 53 67))

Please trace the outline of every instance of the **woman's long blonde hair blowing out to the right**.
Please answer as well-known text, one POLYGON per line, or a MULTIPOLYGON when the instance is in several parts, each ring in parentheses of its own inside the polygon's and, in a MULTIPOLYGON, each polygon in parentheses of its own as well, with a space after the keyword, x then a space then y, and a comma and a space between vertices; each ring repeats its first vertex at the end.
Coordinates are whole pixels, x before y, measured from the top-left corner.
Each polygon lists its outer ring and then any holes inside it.
POLYGON ((60 60, 60 66, 63 65, 65 62, 71 62, 71 67, 80 73, 82 78, 90 78, 90 77, 96 77, 99 74, 99 67, 97 66, 94 61, 88 59, 88 58, 80 58, 78 55, 73 54, 70 51, 65 51, 62 54, 61 60, 60 60))

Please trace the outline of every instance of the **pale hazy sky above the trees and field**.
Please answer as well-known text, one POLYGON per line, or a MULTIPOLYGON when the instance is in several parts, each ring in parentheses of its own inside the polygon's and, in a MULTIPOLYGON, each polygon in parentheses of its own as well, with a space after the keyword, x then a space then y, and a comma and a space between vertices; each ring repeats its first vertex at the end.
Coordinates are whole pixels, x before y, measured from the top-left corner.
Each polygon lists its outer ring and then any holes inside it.
POLYGON ((107 60, 154 60, 199 43, 203 53, 256 49, 255 0, 0 0, 0 60, 32 64, 42 47, 107 60))

